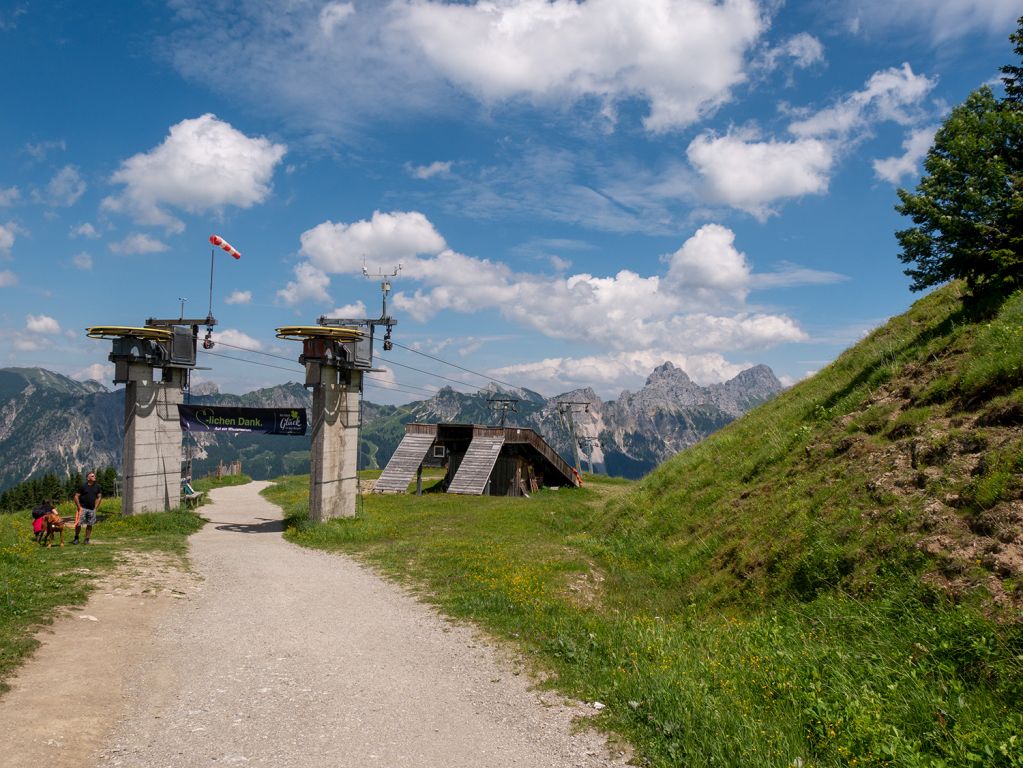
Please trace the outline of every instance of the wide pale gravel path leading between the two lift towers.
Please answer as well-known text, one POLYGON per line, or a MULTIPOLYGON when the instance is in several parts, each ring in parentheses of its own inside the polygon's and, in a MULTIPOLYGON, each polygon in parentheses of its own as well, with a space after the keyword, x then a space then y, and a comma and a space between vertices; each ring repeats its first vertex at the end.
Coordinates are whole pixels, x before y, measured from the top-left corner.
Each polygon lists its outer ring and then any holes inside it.
POLYGON ((585 710, 531 691, 469 629, 348 558, 284 542, 263 485, 214 492, 195 577, 108 587, 54 625, 0 698, 0 763, 624 765, 572 733, 585 710), (87 674, 83 654, 99 662, 87 674), (59 723, 40 726, 47 712, 59 723))

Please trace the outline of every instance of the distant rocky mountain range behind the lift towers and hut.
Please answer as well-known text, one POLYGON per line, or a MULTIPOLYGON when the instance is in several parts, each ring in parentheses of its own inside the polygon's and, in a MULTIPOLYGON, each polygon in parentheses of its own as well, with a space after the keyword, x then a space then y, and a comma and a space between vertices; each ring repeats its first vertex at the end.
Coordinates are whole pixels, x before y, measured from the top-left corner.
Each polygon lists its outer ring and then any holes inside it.
MULTIPOLYGON (((591 389, 552 398, 497 385, 473 394, 440 390, 428 400, 402 406, 363 402, 360 461, 383 466, 409 421, 496 423, 495 396, 519 399, 507 423, 536 430, 573 461, 567 402, 575 433, 598 471, 640 477, 664 459, 699 442, 783 389, 770 368, 758 365, 723 383, 701 387, 671 363, 656 368, 637 392, 603 402, 591 389), (561 407, 560 407, 561 406, 561 407)), ((193 403, 257 408, 310 408, 309 390, 297 382, 243 395, 221 393, 215 385, 192 388, 193 403)), ((118 466, 122 460, 124 391, 97 381, 77 381, 43 368, 0 368, 0 489, 48 471, 59 476, 118 466)), ((258 479, 309 470, 309 439, 261 435, 193 433, 185 439, 192 471, 203 475, 219 461, 240 458, 258 479)))

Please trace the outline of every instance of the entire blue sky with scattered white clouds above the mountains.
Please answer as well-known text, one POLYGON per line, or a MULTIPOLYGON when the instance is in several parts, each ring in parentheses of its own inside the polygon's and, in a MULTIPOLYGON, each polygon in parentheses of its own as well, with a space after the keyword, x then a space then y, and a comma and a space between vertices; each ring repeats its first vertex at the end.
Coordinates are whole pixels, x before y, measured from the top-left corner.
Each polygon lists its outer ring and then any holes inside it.
POLYGON ((1021 13, 0 0, 0 365, 113 387, 85 328, 205 317, 212 260, 223 392, 303 380, 274 329, 379 317, 399 265, 372 402, 793 383, 919 298, 896 189, 1021 13))

